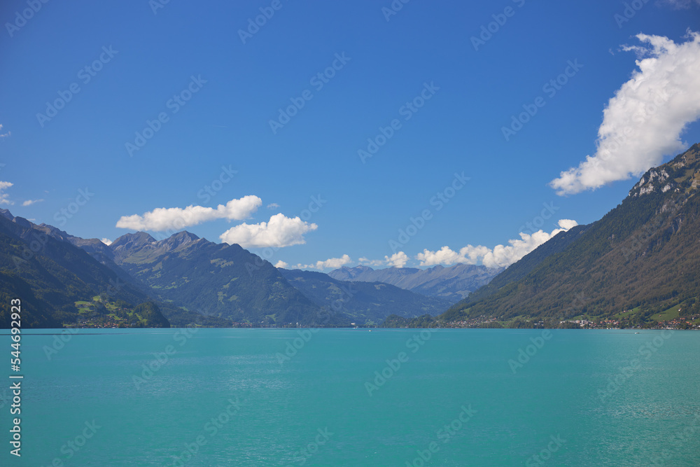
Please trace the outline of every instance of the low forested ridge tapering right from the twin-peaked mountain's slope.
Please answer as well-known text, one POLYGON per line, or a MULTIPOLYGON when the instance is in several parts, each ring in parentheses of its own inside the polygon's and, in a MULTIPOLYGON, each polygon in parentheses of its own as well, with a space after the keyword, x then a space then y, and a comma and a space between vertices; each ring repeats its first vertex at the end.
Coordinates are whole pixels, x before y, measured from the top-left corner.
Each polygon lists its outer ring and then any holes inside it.
POLYGON ((316 305, 348 314, 358 323, 381 323, 390 314, 440 314, 450 303, 380 282, 338 281, 323 272, 279 270, 316 305))

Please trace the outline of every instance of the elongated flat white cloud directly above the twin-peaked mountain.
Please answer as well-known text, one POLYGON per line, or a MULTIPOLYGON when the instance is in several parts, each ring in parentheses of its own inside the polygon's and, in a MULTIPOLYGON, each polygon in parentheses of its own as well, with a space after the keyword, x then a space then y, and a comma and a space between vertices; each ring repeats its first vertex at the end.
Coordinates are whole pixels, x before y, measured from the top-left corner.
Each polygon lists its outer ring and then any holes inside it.
POLYGON ((177 230, 214 219, 241 221, 257 211, 261 204, 262 200, 259 197, 248 195, 240 200, 230 200, 225 205, 219 204, 216 209, 192 205, 185 209, 160 207, 141 216, 138 214, 122 216, 117 222, 117 227, 160 232, 171 229, 177 230))

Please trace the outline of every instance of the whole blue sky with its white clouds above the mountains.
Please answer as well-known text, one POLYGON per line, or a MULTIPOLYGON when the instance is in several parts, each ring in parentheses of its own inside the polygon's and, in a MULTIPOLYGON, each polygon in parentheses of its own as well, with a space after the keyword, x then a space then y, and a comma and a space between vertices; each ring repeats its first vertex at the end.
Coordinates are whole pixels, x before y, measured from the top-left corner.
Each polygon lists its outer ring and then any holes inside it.
POLYGON ((6 0, 0 208, 280 267, 507 266, 700 141, 699 20, 697 0, 6 0))

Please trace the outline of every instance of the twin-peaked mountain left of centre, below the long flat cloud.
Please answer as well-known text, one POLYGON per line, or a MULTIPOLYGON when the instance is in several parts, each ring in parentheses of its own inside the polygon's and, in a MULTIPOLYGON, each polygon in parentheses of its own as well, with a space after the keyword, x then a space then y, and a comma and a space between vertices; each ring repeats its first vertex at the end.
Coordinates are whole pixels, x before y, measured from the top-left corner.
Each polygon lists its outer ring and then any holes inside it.
POLYGON ((237 244, 216 244, 186 231, 160 241, 137 232, 116 239, 104 255, 155 297, 190 311, 251 323, 325 319, 274 266, 237 244))

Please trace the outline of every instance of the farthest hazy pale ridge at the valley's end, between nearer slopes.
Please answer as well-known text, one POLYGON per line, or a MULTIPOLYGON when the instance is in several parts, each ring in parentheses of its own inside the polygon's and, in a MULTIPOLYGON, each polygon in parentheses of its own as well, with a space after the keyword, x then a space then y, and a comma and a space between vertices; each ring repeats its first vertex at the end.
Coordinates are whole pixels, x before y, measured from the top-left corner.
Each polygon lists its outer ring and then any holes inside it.
POLYGON ((384 282, 408 291, 441 298, 455 303, 470 292, 484 286, 502 268, 458 264, 450 267, 435 266, 426 270, 415 267, 388 267, 373 270, 367 266, 341 267, 328 273, 340 281, 384 282))

